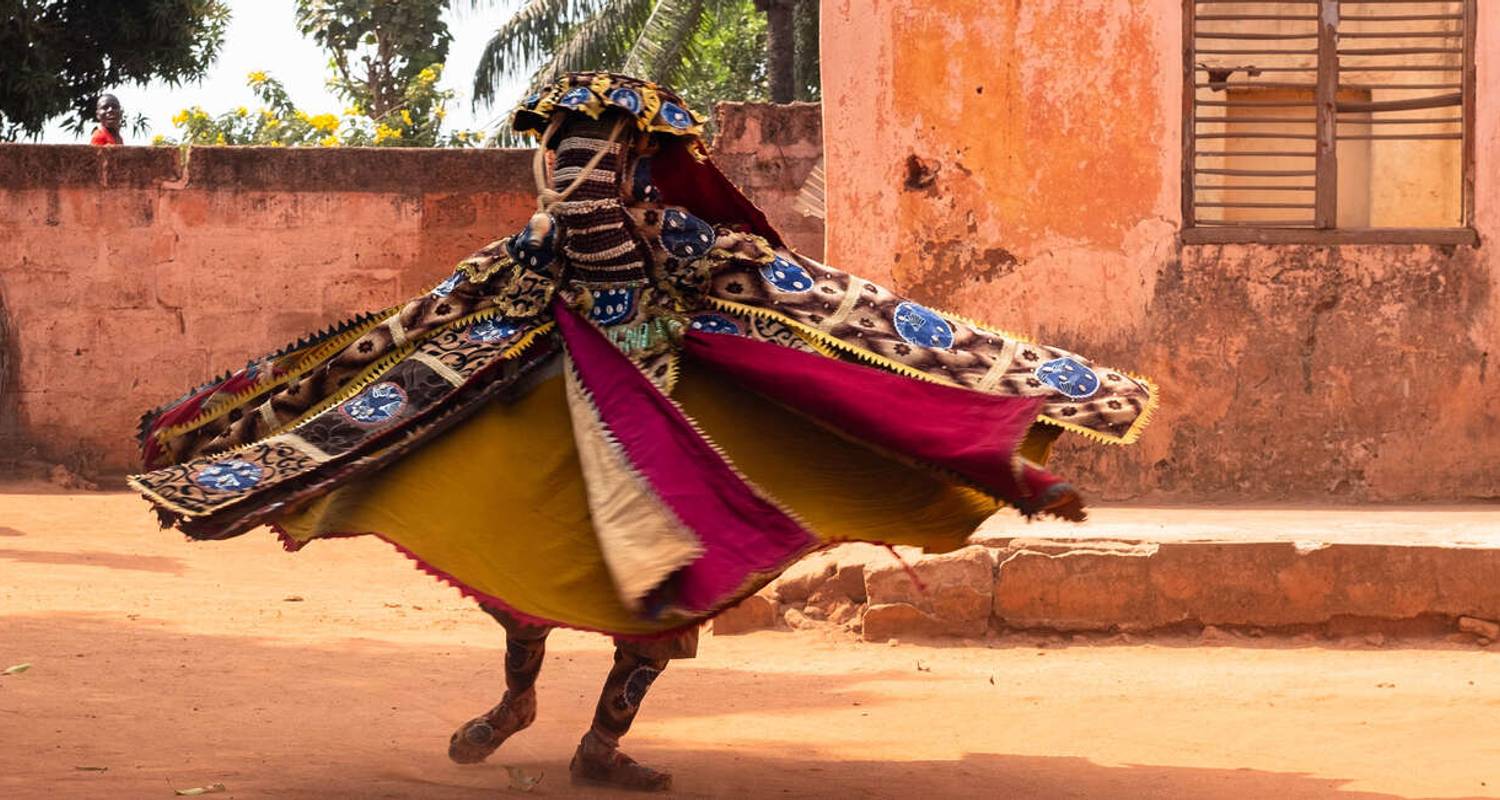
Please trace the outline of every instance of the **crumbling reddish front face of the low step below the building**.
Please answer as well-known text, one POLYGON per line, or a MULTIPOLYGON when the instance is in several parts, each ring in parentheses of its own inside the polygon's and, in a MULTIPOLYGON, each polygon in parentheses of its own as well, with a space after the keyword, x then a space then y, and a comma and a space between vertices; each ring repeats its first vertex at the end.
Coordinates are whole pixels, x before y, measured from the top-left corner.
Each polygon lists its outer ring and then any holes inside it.
POLYGON ((1473 543, 1010 539, 938 555, 902 548, 902 558, 868 545, 818 554, 760 593, 771 608, 754 614, 759 627, 795 614, 852 617, 842 627, 866 641, 1384 629, 1488 644, 1500 620, 1500 546, 1473 543), (855 569, 864 597, 848 588, 855 569))

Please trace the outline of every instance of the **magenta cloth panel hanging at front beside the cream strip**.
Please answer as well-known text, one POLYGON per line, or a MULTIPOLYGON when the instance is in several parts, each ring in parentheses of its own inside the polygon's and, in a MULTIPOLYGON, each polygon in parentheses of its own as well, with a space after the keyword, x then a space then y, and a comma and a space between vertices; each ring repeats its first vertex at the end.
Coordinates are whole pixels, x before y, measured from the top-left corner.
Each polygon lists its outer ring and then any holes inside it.
POLYGON ((573 368, 626 458, 705 552, 674 578, 666 599, 705 612, 738 597, 754 573, 778 572, 818 546, 800 522, 758 495, 687 416, 624 354, 561 300, 558 330, 573 368))

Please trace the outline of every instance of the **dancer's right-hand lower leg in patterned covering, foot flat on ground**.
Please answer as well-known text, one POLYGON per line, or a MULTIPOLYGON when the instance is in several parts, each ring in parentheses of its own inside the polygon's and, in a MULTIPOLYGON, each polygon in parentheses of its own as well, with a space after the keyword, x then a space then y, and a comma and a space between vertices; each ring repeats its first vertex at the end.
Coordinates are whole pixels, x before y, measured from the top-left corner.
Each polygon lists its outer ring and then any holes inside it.
POLYGON ((622 647, 615 648, 615 666, 604 678, 604 690, 594 710, 594 726, 578 743, 568 771, 574 783, 608 783, 627 789, 666 791, 672 776, 636 762, 620 752, 620 737, 640 710, 651 683, 666 669, 666 660, 648 659, 622 647))

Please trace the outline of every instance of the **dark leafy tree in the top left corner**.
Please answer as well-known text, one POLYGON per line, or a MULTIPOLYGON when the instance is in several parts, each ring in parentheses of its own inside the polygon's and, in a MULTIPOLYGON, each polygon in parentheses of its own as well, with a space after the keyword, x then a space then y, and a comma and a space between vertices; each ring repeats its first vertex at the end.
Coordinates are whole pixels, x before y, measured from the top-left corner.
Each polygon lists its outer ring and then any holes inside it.
POLYGON ((69 113, 84 131, 122 84, 201 78, 228 18, 220 0, 0 0, 0 140, 69 113))

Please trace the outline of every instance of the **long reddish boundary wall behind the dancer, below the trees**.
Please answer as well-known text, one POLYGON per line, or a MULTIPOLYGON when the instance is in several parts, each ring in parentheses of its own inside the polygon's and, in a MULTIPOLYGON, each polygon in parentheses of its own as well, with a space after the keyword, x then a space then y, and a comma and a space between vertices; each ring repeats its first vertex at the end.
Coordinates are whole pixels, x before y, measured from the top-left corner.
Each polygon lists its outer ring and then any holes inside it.
MULTIPOLYGON (((816 110, 734 107, 722 131, 729 177, 820 252, 789 207, 816 110), (762 138, 794 168, 750 158, 762 138)), ((129 470, 147 407, 426 290, 534 197, 520 150, 206 147, 184 167, 171 149, 0 146, 0 462, 129 470)))

